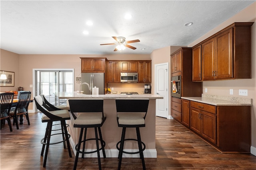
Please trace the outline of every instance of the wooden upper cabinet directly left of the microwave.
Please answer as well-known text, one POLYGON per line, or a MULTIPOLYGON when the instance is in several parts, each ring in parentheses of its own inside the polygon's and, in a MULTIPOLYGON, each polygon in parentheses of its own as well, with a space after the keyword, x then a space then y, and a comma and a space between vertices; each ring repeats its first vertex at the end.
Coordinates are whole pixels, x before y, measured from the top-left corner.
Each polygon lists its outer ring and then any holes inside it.
POLYGON ((107 63, 107 82, 120 83, 120 62, 108 61, 107 63))

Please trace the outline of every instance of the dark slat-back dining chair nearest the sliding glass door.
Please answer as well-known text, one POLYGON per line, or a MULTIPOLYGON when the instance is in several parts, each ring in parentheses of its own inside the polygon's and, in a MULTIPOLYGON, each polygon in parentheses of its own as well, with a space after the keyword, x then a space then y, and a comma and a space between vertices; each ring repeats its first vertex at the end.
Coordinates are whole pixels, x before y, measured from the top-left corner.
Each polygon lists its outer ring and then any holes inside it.
MULTIPOLYGON (((31 92, 23 91, 18 93, 18 102, 14 111, 10 111, 10 117, 13 117, 13 125, 16 124, 16 128, 19 129, 18 117, 23 120, 23 115, 26 116, 28 125, 30 125, 28 117, 28 105, 30 103, 31 92)), ((22 121, 23 122, 23 121, 22 121)))

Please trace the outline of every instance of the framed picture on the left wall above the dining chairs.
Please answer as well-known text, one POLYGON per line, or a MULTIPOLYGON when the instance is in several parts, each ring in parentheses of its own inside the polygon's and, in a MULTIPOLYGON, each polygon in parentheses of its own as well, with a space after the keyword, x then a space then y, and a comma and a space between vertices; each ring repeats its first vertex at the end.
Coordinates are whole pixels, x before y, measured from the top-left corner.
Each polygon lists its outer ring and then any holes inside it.
POLYGON ((0 71, 0 86, 14 87, 14 72, 0 71))

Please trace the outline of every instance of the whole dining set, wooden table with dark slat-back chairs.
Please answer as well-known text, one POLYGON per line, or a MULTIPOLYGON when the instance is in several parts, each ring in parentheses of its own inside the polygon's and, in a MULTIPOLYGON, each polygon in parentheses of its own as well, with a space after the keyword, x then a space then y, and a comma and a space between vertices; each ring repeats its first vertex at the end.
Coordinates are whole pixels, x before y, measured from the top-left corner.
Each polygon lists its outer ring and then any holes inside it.
POLYGON ((16 129, 18 130, 19 124, 22 125, 24 123, 24 116, 28 125, 30 125, 28 105, 33 102, 30 91, 18 91, 16 99, 14 99, 14 92, 1 92, 0 96, 1 129, 8 126, 10 132, 12 132, 12 126, 16 125, 16 129))

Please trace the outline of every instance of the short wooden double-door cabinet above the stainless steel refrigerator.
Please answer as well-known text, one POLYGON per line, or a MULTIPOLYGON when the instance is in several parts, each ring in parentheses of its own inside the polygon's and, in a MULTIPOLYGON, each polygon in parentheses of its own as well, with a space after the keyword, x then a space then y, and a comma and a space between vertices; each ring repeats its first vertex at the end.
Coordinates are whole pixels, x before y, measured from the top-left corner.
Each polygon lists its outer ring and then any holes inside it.
POLYGON ((81 72, 105 72, 106 58, 80 58, 81 72))

